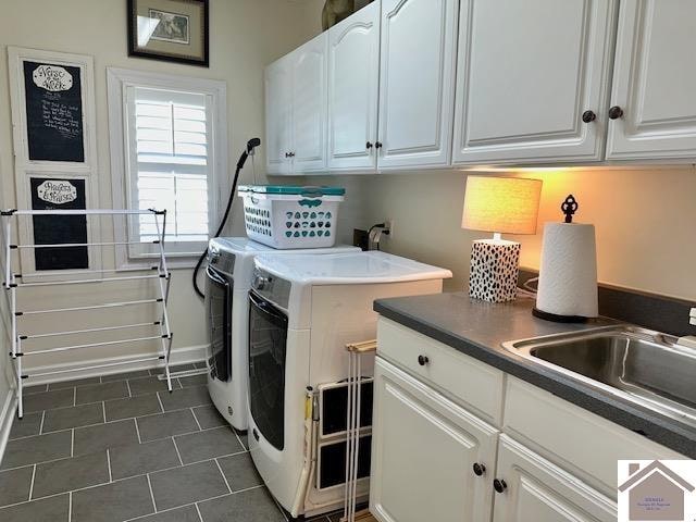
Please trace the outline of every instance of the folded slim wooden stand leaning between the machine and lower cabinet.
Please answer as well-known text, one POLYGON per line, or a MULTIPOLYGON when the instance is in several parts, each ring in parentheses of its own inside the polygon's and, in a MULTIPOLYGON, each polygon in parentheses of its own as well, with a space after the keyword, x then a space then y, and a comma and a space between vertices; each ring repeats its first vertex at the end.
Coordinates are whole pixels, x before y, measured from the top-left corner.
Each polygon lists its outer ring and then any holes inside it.
POLYGON ((358 455, 360 452, 360 402, 362 370, 360 358, 365 353, 374 353, 376 340, 352 343, 346 345, 348 350, 348 419, 346 436, 346 498, 344 515, 340 522, 375 521, 369 509, 356 512, 358 497, 358 455))

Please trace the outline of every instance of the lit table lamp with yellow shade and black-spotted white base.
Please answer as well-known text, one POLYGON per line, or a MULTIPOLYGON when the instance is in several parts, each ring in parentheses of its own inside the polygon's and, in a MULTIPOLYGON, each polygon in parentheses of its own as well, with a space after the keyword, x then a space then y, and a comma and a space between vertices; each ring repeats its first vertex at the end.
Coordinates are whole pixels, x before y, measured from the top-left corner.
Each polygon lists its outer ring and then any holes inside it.
POLYGON ((490 302, 514 300, 518 290, 520 244, 501 234, 536 234, 540 179, 469 176, 461 227, 492 232, 471 249, 469 295, 490 302))

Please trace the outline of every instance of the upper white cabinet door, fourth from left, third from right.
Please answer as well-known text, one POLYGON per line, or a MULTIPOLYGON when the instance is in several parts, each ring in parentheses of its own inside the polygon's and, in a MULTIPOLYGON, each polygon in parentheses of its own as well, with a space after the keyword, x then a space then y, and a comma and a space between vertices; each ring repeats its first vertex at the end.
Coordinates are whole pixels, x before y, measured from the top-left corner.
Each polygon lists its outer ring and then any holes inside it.
POLYGON ((458 4, 382 1, 380 169, 450 162, 458 4))

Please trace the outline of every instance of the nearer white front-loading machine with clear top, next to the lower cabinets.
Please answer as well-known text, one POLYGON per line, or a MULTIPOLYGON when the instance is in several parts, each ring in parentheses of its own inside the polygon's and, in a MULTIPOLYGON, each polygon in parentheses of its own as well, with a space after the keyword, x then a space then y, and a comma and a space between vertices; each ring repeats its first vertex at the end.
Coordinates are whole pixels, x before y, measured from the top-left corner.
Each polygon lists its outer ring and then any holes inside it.
MULTIPOLYGON (((327 397, 330 390, 346 389, 345 346, 376 337, 375 299, 438 294, 452 274, 375 251, 263 254, 256 265, 249 291, 251 457, 293 517, 327 512, 344 502, 347 395, 334 394, 333 402, 327 397)), ((373 365, 374 357, 363 357, 362 375, 373 375, 373 365)), ((371 384, 363 389, 371 391, 371 384)), ((365 451, 369 436, 370 430, 361 431, 365 451)), ((369 456, 362 468, 366 477, 369 456)), ((368 483, 360 481, 360 497, 368 483)))

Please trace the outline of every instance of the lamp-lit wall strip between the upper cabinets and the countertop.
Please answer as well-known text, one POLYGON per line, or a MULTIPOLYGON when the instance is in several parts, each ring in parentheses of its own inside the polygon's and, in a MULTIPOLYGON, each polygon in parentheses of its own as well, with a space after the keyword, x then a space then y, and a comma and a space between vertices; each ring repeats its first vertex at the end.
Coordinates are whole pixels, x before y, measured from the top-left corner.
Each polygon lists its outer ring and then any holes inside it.
MULTIPOLYGON (((489 175, 506 175, 495 173, 489 175)), ((598 276, 616 286, 696 300, 696 172, 680 169, 585 169, 524 172, 544 181, 537 234, 522 243, 521 264, 539 266, 543 224, 560 221, 573 194, 576 221, 597 231, 598 276)), ((451 269, 450 290, 467 288, 471 241, 461 229, 465 172, 417 172, 364 179, 363 220, 395 220, 384 249, 451 269)), ((489 235, 488 235, 489 236, 489 235)))

